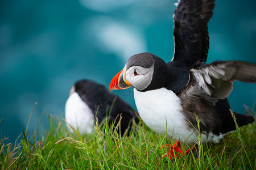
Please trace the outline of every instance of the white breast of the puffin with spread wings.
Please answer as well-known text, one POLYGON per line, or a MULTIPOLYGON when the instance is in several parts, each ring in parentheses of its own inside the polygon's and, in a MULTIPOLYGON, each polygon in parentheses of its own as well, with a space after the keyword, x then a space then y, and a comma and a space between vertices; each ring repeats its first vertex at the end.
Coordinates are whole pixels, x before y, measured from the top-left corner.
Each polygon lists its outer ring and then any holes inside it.
POLYGON ((174 92, 166 88, 139 92, 134 88, 134 100, 142 120, 156 133, 164 134, 167 130, 167 136, 176 141, 197 141, 197 134, 188 128, 188 122, 181 113, 180 98, 174 92))

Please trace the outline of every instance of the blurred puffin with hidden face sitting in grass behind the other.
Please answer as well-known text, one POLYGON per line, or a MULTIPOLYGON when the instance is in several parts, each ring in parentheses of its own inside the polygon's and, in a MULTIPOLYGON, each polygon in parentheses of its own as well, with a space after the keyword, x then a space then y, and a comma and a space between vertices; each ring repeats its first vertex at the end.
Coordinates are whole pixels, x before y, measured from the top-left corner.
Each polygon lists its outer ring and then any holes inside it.
POLYGON ((96 125, 96 117, 98 124, 108 118, 110 127, 119 125, 117 131, 121 135, 130 130, 133 119, 135 123, 139 122, 138 113, 103 85, 92 80, 79 80, 71 87, 65 103, 67 127, 70 131, 74 128, 80 134, 90 134, 96 125))

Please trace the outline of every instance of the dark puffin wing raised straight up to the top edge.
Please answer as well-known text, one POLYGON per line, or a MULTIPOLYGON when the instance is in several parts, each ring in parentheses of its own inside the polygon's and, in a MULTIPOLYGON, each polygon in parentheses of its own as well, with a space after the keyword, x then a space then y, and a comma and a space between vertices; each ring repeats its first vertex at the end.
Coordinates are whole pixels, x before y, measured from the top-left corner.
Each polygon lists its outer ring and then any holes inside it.
POLYGON ((193 65, 207 60, 207 23, 213 15, 214 0, 181 0, 174 12, 175 53, 172 61, 193 65))

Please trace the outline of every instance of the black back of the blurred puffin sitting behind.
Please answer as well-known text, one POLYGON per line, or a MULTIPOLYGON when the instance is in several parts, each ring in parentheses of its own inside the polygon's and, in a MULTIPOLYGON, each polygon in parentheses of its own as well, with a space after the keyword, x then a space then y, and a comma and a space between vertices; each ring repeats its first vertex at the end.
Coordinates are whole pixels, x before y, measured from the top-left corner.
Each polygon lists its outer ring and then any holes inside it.
POLYGON ((133 118, 135 122, 139 122, 136 116, 138 113, 130 105, 125 103, 125 101, 106 90, 101 84, 91 80, 79 80, 75 83, 75 91, 89 108, 92 109, 94 118, 96 116, 99 123, 105 121, 108 117, 109 125, 114 124, 116 126, 122 114, 121 134, 125 133, 127 128, 130 128, 133 118))

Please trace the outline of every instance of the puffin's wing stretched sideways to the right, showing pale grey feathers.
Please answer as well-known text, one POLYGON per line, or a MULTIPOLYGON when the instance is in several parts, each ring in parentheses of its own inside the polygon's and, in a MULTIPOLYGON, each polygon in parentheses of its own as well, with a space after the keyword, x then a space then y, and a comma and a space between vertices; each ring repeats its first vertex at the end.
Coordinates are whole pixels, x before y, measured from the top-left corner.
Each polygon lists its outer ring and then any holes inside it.
POLYGON ((196 86, 204 94, 224 99, 233 88, 234 80, 247 83, 256 82, 256 65, 241 61, 215 61, 191 69, 196 86))

